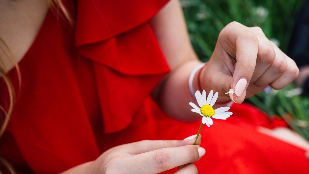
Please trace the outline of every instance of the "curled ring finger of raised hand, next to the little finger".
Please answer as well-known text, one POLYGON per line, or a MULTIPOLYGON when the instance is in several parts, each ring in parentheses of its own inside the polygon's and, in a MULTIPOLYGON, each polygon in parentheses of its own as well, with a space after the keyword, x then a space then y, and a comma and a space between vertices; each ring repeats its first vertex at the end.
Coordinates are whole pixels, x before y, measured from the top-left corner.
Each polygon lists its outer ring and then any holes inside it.
POLYGON ((288 65, 285 54, 275 44, 272 43, 272 45, 275 48, 276 58, 273 60, 272 64, 264 72, 264 74, 262 74, 260 78, 254 82, 257 87, 267 86, 269 83, 277 79, 287 69, 288 65))

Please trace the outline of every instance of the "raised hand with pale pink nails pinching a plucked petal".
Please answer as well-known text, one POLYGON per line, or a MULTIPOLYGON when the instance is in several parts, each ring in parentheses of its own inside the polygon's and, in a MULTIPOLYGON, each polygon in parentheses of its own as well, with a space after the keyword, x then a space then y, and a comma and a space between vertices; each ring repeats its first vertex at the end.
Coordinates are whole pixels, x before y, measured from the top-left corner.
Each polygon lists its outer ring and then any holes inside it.
POLYGON ((217 101, 242 103, 267 86, 278 90, 298 76, 295 62, 269 41, 261 28, 231 22, 219 34, 214 53, 201 72, 201 87, 219 92, 217 101))

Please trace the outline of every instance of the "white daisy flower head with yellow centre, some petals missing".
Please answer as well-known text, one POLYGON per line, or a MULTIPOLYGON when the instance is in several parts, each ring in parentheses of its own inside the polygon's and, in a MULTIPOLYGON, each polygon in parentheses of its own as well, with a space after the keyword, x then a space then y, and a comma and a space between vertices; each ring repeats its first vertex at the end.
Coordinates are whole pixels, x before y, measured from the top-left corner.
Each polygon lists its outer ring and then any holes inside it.
POLYGON ((200 107, 198 107, 196 104, 190 102, 189 104, 193 107, 191 109, 192 112, 196 112, 200 114, 202 118, 202 124, 206 124, 208 127, 213 125, 213 120, 211 118, 220 119, 220 120, 226 120, 226 118, 230 117, 233 113, 227 112, 230 107, 221 107, 214 109, 213 106, 216 103, 218 99, 218 92, 214 94, 214 91, 210 91, 208 94, 208 97, 206 99, 206 91, 203 90, 201 94, 200 91, 196 91, 195 98, 197 100, 197 103, 200 107))

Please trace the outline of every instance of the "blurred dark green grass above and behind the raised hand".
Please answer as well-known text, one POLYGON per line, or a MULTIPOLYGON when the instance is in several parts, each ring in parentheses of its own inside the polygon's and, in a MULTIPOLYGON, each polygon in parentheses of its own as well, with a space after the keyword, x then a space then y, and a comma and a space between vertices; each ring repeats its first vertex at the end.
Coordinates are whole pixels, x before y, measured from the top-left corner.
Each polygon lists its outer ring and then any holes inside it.
POLYGON ((232 21, 259 26, 286 51, 294 19, 305 0, 180 0, 192 45, 202 61, 214 50, 222 28, 232 21))

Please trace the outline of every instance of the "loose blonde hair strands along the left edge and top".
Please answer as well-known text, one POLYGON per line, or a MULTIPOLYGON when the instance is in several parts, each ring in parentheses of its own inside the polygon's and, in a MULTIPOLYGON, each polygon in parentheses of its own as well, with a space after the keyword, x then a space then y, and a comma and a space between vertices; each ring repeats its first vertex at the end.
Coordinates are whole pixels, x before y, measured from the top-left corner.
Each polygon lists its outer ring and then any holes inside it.
MULTIPOLYGON (((53 11, 54 14, 56 14, 58 20, 64 20, 66 23, 69 23, 71 27, 74 27, 74 20, 71 16, 71 14, 67 11, 61 0, 47 0, 49 2, 49 8, 53 11)), ((0 37, 0 51, 3 52, 3 55, 11 60, 15 64, 15 69, 17 72, 18 76, 18 82, 19 82, 19 90, 21 87, 21 74, 18 66, 18 62, 16 62, 15 56, 12 53, 11 49, 9 46, 6 44, 6 42, 0 37)), ((8 108, 5 109, 3 106, 0 105, 0 110, 2 111, 2 115, 0 115, 3 120, 1 123, 0 127, 0 138, 2 137, 8 122, 11 118, 14 104, 15 104, 15 99, 16 99, 16 94, 15 94, 15 89, 12 84, 11 79, 9 78, 8 74, 6 73, 8 70, 5 67, 3 59, 0 57, 0 77, 3 78, 4 83, 6 84, 7 91, 9 94, 9 105, 8 108)), ((18 91, 19 91, 18 90, 18 91)), ((0 112, 1 113, 1 112, 0 112)), ((4 167, 6 167, 6 170, 12 174, 15 174, 15 171, 11 164, 4 159, 2 156, 0 156, 0 163, 3 164, 4 167)), ((0 174, 2 174, 2 170, 0 170, 0 174)))

